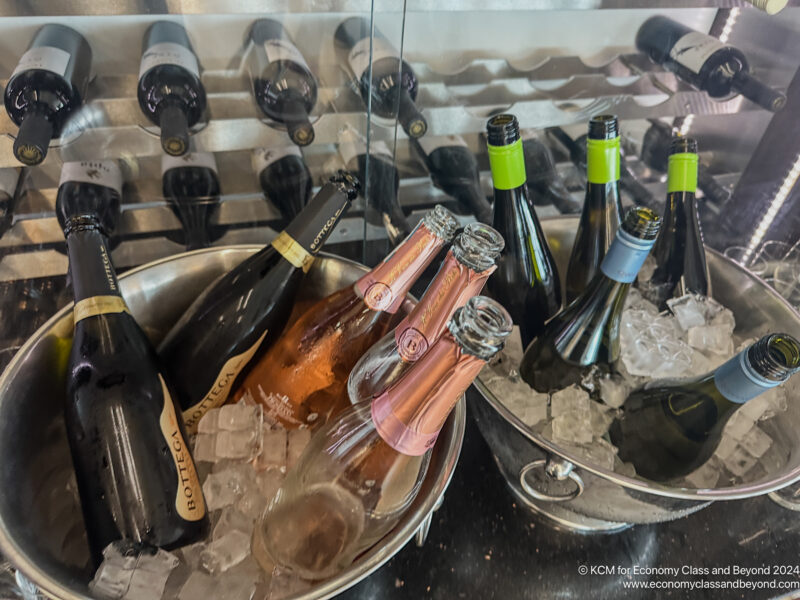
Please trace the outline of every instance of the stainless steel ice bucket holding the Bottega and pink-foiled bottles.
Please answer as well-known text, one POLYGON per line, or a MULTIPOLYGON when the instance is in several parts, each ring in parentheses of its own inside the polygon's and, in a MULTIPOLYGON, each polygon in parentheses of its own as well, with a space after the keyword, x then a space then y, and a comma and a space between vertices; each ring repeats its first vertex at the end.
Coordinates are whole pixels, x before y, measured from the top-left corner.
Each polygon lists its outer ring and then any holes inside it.
MULTIPOLYGON (((157 342, 208 283, 257 250, 256 246, 230 246, 159 260, 123 275, 122 293, 133 315, 157 342)), ((300 297, 324 296, 354 282, 364 271, 361 265, 341 258, 319 258, 300 297)), ((0 377, 0 553, 47 595, 62 600, 90 598, 91 577, 84 566, 85 545, 65 548, 52 525, 58 523, 63 531, 65 523, 72 524, 73 534, 80 531, 83 522, 77 504, 63 515, 47 514, 52 496, 65 493, 72 469, 62 417, 71 338, 72 305, 37 331, 0 377)), ((465 418, 461 401, 439 436, 419 496, 397 527, 349 569, 297 598, 334 596, 380 567, 415 533, 418 541, 424 537, 458 461, 465 418)))

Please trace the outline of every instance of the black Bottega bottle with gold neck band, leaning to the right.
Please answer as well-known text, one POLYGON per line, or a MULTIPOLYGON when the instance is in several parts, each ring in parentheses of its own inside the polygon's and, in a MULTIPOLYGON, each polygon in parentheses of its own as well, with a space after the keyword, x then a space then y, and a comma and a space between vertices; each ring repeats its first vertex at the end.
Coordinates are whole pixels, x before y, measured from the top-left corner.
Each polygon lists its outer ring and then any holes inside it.
POLYGON ((215 280, 158 348, 189 433, 281 334, 304 273, 358 192, 339 172, 263 250, 215 280), (202 365, 202 369, 198 369, 202 365))

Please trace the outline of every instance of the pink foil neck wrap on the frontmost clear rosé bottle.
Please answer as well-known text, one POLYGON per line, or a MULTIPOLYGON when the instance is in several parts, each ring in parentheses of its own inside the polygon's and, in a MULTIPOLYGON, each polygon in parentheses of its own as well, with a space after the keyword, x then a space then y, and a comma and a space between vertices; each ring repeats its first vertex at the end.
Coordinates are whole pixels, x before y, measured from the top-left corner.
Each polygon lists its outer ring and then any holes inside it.
POLYGON ((381 438, 402 454, 425 454, 485 364, 444 334, 405 377, 372 401, 372 421, 381 438))

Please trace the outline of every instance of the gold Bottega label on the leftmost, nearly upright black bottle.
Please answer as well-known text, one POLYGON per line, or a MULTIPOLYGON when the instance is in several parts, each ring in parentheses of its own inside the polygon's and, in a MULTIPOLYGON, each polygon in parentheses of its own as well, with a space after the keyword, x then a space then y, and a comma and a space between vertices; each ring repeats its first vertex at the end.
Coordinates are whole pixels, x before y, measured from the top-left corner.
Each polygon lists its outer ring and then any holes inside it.
POLYGON ((178 490, 175 495, 175 509, 186 521, 199 521, 206 516, 206 503, 203 499, 203 490, 197 469, 189 453, 189 446, 183 439, 181 428, 178 425, 178 416, 175 414, 175 403, 167 390, 167 384, 161 374, 161 394, 164 398, 164 408, 161 411, 161 433, 169 446, 172 460, 175 462, 175 471, 178 474, 178 490))

